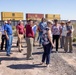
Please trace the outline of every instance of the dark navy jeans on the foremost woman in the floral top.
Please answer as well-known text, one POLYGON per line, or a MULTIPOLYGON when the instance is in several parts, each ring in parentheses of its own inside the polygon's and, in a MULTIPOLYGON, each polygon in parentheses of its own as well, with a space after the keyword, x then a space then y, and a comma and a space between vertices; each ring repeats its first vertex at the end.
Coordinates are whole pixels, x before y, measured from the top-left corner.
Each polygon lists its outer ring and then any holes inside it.
POLYGON ((42 62, 45 62, 45 59, 46 59, 46 64, 49 64, 50 63, 50 53, 52 51, 52 46, 49 43, 47 45, 43 45, 43 49, 44 49, 44 52, 43 52, 43 56, 42 56, 42 62))

